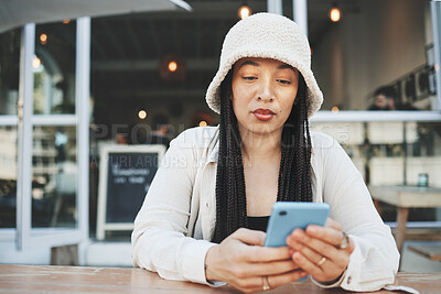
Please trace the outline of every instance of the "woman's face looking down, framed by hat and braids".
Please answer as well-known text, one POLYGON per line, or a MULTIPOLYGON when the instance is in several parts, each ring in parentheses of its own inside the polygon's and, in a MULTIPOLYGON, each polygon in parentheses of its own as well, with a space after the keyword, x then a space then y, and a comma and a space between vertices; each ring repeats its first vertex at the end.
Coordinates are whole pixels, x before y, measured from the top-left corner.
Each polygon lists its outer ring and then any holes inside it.
POLYGON ((282 132, 299 86, 299 72, 270 58, 246 57, 233 67, 232 101, 239 131, 282 132))

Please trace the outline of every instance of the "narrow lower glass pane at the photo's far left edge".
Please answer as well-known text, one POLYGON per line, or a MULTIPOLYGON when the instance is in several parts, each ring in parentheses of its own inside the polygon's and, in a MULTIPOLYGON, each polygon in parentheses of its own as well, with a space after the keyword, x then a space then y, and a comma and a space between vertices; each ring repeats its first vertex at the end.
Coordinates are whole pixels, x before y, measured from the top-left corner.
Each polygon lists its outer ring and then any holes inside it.
POLYGON ((17 127, 0 127, 0 228, 15 227, 17 127))

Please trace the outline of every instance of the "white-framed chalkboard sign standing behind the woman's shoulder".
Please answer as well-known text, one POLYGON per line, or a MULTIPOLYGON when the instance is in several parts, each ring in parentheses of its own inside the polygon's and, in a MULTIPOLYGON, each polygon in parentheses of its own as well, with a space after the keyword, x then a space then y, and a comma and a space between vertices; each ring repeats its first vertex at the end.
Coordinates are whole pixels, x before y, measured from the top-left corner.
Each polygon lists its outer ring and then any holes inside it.
POLYGON ((103 150, 97 239, 108 230, 131 230, 165 153, 163 145, 110 145, 103 150))

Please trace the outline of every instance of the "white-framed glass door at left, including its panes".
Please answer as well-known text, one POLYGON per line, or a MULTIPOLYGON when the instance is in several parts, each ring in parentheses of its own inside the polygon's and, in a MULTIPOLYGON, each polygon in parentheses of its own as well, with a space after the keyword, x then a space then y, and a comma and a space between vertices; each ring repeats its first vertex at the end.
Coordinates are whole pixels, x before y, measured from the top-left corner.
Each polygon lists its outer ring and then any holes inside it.
POLYGON ((0 238, 20 250, 78 243, 88 238, 90 20, 3 34, 20 77, 15 87, 0 84, 9 107, 0 110, 0 160, 9 164, 0 168, 0 186, 9 185, 0 189, 0 238))

